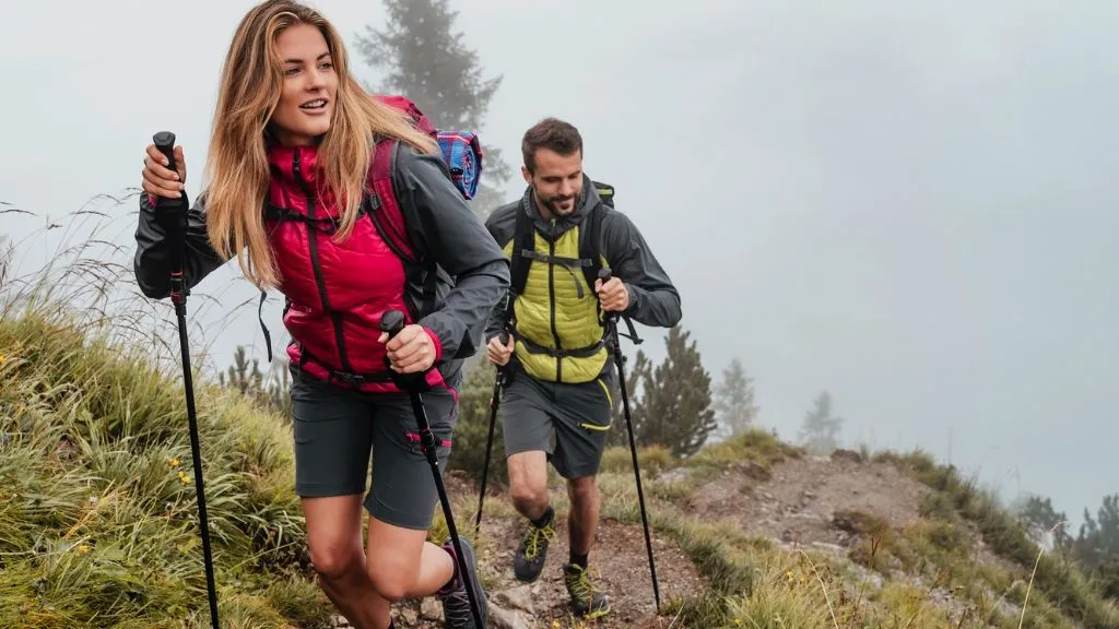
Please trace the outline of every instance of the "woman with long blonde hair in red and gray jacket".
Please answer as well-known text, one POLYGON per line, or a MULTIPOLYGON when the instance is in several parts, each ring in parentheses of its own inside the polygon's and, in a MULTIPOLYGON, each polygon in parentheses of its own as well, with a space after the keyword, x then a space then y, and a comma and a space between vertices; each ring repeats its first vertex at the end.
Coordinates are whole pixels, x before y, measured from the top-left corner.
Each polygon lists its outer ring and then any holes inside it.
MULTIPOLYGON (((436 488, 385 356, 401 374, 436 367, 424 402, 445 464, 462 359, 479 349, 486 319, 506 294, 508 259, 450 179, 435 140, 413 122, 364 93, 338 31, 318 12, 290 0, 254 7, 234 34, 207 180, 186 210, 184 282, 195 287, 236 255, 254 284, 286 298, 295 491, 320 586, 341 613, 355 627, 384 629, 393 626, 389 603, 438 594, 446 627, 481 629, 452 544, 426 542, 436 488), (391 141, 395 154, 382 156, 377 148, 391 141), (384 203, 384 181, 380 197, 370 190, 386 156, 389 200, 412 217, 417 248, 454 278, 453 288, 441 280, 434 303, 422 272, 398 257, 368 214, 384 203), (408 317, 392 340, 378 327, 391 309, 408 317)), ((170 294, 157 197, 187 206, 182 148, 173 156, 177 171, 154 144, 144 157, 134 265, 149 298, 170 294)), ((485 623, 474 550, 460 542, 485 623)))

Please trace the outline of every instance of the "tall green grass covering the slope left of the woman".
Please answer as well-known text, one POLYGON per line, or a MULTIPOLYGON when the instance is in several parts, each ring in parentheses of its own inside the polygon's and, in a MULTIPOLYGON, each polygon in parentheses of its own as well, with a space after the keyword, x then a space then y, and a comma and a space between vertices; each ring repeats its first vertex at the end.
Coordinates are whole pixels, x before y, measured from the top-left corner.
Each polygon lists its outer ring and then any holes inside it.
MULTIPOLYGON (((112 332, 51 301, 0 310, 0 626, 208 626, 181 383, 112 332)), ((325 627, 283 422, 196 397, 223 622, 325 627)))

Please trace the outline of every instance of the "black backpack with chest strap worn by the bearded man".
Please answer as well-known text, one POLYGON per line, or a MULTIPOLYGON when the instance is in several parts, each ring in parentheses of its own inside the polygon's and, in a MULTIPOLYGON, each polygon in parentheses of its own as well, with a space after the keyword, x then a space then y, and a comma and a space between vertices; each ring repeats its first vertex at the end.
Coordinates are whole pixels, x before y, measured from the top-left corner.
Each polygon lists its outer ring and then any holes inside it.
MULTIPOLYGON (((586 215, 586 219, 580 227, 579 260, 553 259, 553 261, 568 266, 580 266, 583 271, 583 278, 586 280, 586 285, 593 289, 595 280, 599 279, 599 271, 602 270, 602 215, 605 213, 603 207, 614 209, 614 187, 594 180, 591 181, 591 185, 594 186, 602 203, 596 204, 591 209, 591 213, 586 215)), ((533 260, 539 260, 539 255, 536 253, 536 227, 533 224, 533 217, 526 212, 517 212, 516 220, 513 236, 513 256, 509 261, 509 297, 505 307, 507 327, 511 327, 513 323, 514 302, 517 295, 524 292, 525 283, 528 281, 528 267, 532 265, 533 260)), ((544 260, 544 262, 547 262, 547 260, 544 260)), ((624 314, 621 316, 621 319, 624 320, 629 331, 628 335, 622 334, 621 336, 629 338, 634 345, 640 345, 641 338, 637 335, 633 321, 624 314)))

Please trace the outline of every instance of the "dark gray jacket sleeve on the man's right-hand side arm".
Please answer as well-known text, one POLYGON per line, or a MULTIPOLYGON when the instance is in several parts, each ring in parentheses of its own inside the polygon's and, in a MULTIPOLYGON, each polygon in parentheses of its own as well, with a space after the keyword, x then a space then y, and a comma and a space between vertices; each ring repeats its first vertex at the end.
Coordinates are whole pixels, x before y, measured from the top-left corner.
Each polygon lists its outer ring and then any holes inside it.
POLYGON ((671 328, 678 323, 680 295, 633 222, 621 212, 609 212, 602 231, 610 266, 629 290, 630 306, 624 314, 645 326, 671 328))

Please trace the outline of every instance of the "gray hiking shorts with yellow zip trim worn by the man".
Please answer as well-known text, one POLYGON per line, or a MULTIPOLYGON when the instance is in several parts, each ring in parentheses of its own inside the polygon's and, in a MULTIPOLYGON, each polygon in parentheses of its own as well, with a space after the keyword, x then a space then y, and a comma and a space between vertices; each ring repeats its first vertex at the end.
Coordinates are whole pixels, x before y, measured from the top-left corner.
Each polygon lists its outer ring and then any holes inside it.
POLYGON ((560 384, 515 368, 498 407, 506 457, 543 450, 566 479, 596 475, 610 434, 611 376, 560 384))

